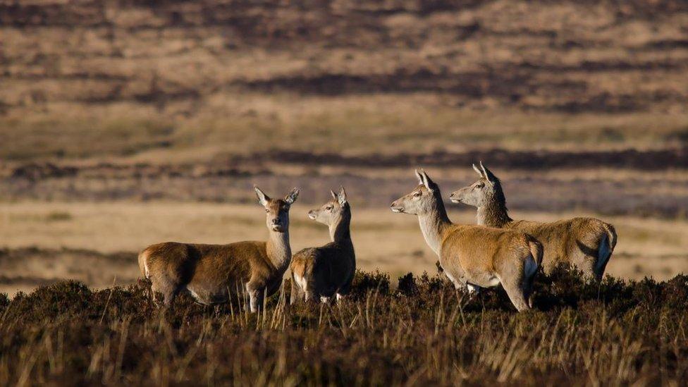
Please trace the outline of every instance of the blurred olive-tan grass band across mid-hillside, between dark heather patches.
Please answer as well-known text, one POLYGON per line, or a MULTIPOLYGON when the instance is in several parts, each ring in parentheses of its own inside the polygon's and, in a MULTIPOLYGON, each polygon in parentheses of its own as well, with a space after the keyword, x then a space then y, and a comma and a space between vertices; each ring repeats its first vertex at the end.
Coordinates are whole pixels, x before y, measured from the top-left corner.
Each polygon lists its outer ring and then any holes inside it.
POLYGON ((309 97, 238 93, 203 104, 49 104, 0 118, 0 157, 198 161, 290 149, 344 154, 467 149, 675 147, 683 113, 548 113, 467 109, 431 94, 309 97))

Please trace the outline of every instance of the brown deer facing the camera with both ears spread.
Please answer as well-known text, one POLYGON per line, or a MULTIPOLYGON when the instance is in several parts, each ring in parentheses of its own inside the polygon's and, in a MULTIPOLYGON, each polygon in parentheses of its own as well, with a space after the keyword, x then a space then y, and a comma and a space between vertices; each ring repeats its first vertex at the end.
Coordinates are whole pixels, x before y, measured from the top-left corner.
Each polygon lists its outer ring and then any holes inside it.
POLYGON ((254 187, 265 209, 267 241, 228 245, 164 242, 150 245, 138 256, 139 268, 151 281, 152 295, 162 293, 163 304, 172 305, 185 291, 202 305, 231 301, 232 293, 245 289, 251 312, 257 312, 264 295, 274 294, 291 260, 289 209, 299 195, 294 188, 284 199, 271 199, 254 187))

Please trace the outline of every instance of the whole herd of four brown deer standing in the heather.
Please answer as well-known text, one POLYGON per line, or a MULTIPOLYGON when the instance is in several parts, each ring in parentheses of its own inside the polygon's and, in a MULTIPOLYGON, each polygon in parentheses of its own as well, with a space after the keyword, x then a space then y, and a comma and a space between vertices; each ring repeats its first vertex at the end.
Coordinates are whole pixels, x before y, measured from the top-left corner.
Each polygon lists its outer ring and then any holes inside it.
MULTIPOLYGON (((450 221, 438 185, 423 170, 415 172, 418 185, 391 204, 393 212, 417 216, 425 241, 437 254, 438 269, 455 288, 474 293, 501 284, 522 311, 533 306, 530 295, 540 270, 549 273, 568 264, 590 280, 602 278, 616 245, 612 225, 593 218, 515 221, 508 214, 500 180, 482 163, 473 168, 478 180, 455 190, 449 199, 477 207, 477 225, 450 221)), ((329 228, 331 242, 295 254, 289 243, 289 209, 298 188, 282 199, 254 189, 265 209, 268 240, 228 245, 164 242, 147 247, 138 263, 151 281, 154 299, 161 293, 163 304, 171 305, 180 292, 187 292, 200 304, 214 305, 247 294, 251 312, 257 312, 264 297, 279 290, 287 269, 291 303, 330 302, 331 297, 340 300, 348 294, 356 258, 344 188, 330 191, 331 200, 308 212, 310 219, 329 228)))

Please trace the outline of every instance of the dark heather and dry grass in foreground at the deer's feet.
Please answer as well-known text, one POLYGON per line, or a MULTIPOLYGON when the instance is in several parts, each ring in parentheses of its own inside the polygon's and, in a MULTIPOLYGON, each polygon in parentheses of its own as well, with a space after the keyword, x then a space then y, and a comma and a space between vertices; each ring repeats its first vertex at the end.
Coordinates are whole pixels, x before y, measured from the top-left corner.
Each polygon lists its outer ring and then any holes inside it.
MULTIPOLYGON (((94 291, 58 283, 0 297, 0 383, 25 385, 455 386, 659 384, 688 376, 688 281, 536 283, 538 309, 502 291, 469 300, 448 281, 357 274, 336 305, 257 314, 245 297, 156 309, 145 284, 94 291)), ((285 287, 288 289, 288 287, 285 287)))

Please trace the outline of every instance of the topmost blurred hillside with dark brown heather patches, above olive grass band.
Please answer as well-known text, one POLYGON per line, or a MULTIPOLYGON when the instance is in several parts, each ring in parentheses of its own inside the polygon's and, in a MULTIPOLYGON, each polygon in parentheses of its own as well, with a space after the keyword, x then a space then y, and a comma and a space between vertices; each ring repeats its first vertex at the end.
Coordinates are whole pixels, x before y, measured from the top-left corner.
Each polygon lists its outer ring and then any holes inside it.
POLYGON ((7 1, 4 109, 235 90, 684 110, 685 1, 7 1))

